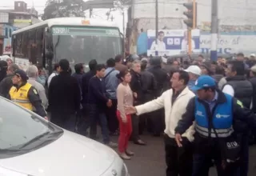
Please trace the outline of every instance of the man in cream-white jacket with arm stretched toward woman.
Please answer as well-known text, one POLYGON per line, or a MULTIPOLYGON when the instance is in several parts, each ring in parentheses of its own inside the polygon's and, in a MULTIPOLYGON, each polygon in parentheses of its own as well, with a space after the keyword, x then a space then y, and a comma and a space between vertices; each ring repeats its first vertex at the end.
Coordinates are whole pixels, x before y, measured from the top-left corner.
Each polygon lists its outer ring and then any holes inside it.
POLYGON ((170 80, 172 89, 166 90, 159 98, 150 102, 126 108, 127 114, 137 115, 165 108, 166 176, 190 176, 193 170, 193 147, 191 142, 194 140, 194 126, 190 126, 182 134, 182 148, 177 146, 174 132, 178 121, 182 118, 182 114, 186 112, 186 106, 190 98, 195 96, 187 87, 189 80, 190 77, 186 71, 178 70, 174 72, 170 80))

